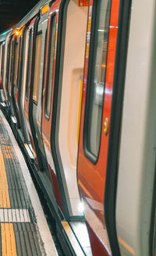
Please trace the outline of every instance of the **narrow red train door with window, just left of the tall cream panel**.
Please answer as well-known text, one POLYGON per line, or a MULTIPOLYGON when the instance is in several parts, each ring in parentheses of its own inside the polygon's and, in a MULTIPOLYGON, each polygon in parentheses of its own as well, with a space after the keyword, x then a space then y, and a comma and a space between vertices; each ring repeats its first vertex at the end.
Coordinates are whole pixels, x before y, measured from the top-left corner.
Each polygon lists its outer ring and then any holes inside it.
POLYGON ((45 70, 44 70, 44 88, 43 88, 43 108, 41 116, 41 135, 44 144, 44 151, 48 160, 48 169, 50 171, 51 180, 55 192, 55 197, 59 207, 62 209, 62 198, 58 188, 58 180, 55 174, 55 167, 51 155, 51 115, 53 102, 53 87, 55 80, 55 58, 56 46, 58 39, 58 16, 60 0, 51 5, 50 14, 48 16, 48 34, 47 48, 45 55, 45 70))

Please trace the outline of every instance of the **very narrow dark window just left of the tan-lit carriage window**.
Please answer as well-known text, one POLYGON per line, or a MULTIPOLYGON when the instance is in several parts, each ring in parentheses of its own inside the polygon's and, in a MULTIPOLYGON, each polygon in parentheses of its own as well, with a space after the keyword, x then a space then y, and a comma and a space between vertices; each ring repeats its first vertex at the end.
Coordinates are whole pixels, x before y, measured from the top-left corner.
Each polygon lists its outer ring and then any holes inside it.
POLYGON ((28 99, 29 83, 30 83, 30 56, 31 56, 31 43, 32 43, 32 30, 28 34, 28 54, 27 54, 27 77, 26 77, 26 100, 28 99))

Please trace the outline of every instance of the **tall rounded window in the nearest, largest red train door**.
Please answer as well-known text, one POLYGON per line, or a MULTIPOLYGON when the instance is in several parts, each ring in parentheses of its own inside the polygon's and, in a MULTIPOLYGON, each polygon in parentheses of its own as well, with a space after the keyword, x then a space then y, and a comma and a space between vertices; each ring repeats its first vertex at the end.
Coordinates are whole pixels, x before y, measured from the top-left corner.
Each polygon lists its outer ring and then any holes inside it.
POLYGON ((111 0, 94 0, 84 123, 84 151, 94 164, 101 140, 110 12, 111 0))

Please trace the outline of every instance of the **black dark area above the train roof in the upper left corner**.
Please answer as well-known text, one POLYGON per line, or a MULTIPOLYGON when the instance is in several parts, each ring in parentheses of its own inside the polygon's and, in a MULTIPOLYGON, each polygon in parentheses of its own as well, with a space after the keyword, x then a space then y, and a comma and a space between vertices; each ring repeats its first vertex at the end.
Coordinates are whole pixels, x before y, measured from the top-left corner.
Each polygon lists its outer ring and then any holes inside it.
POLYGON ((18 23, 39 0, 0 0, 0 33, 18 23))

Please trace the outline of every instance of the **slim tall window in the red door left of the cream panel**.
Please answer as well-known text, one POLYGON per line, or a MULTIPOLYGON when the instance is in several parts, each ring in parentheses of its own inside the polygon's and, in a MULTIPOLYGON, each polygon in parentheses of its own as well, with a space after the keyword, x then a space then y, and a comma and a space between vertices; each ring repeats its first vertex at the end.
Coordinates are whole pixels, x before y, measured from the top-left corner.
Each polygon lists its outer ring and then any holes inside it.
POLYGON ((51 39, 48 49, 48 71, 47 71, 47 85, 45 95, 45 116, 49 119, 51 111, 51 91, 52 91, 52 80, 53 80, 53 68, 55 58, 55 32, 56 32, 56 16, 51 17, 51 39))

